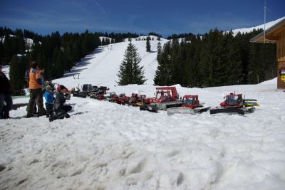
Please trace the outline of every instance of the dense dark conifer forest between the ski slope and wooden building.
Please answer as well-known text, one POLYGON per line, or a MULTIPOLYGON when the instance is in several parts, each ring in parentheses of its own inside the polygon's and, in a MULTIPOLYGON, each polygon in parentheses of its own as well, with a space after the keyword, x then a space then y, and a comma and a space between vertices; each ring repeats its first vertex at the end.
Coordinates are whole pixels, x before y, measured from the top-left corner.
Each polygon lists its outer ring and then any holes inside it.
MULTIPOLYGON (((212 87, 260 83, 276 77, 276 45, 249 43, 262 29, 251 33, 189 33, 157 46, 155 85, 212 87)), ((172 36, 173 37, 173 36, 172 36)))

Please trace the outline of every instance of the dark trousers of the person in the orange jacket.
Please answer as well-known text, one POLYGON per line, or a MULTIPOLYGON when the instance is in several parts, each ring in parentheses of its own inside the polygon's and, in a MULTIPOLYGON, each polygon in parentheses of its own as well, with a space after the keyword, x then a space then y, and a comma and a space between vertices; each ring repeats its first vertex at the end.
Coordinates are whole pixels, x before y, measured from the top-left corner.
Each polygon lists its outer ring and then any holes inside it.
POLYGON ((38 115, 43 115, 43 91, 41 90, 41 88, 30 89, 30 100, 28 101, 27 106, 27 116, 33 117, 35 102, 38 106, 38 115))

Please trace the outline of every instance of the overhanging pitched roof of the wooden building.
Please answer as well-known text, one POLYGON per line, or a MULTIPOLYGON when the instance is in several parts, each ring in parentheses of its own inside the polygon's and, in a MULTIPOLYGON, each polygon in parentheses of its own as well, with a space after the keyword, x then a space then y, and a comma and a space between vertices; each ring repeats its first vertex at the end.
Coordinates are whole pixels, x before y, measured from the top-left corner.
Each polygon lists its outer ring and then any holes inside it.
MULTIPOLYGON (((285 19, 282 19, 278 23, 274 24, 265 31, 265 42, 266 43, 276 43, 279 41, 279 36, 285 31, 285 19)), ((264 31, 259 33, 250 40, 252 43, 264 43, 264 31)))

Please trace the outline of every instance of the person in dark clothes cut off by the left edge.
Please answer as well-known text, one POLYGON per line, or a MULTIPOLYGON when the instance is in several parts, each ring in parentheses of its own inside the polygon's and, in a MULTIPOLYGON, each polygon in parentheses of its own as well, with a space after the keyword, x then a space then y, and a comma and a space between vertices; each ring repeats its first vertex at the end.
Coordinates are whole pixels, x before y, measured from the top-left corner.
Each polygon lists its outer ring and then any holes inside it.
POLYGON ((11 83, 2 72, 2 65, 0 65, 0 119, 10 118, 9 111, 13 104, 11 93, 11 83))

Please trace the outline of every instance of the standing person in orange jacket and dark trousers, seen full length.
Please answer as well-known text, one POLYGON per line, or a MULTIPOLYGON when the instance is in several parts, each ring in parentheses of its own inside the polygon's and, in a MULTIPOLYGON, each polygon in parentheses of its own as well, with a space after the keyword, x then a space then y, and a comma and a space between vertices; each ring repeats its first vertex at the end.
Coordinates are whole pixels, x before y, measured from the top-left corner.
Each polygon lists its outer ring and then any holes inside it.
POLYGON ((41 89, 42 84, 43 82, 41 80, 41 70, 38 68, 38 63, 32 61, 31 70, 29 73, 29 81, 28 81, 30 100, 28 101, 26 117, 33 117, 35 102, 36 105, 38 106, 38 116, 44 115, 43 90, 41 89))

